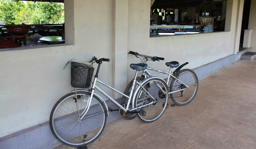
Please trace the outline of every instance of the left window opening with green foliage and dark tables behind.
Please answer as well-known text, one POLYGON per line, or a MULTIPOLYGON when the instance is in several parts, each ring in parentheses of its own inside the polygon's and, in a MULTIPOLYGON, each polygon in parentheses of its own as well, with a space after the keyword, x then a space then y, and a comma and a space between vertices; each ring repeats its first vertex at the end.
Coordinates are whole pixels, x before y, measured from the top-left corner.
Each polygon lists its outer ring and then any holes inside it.
POLYGON ((0 48, 65 43, 64 0, 0 0, 0 48))

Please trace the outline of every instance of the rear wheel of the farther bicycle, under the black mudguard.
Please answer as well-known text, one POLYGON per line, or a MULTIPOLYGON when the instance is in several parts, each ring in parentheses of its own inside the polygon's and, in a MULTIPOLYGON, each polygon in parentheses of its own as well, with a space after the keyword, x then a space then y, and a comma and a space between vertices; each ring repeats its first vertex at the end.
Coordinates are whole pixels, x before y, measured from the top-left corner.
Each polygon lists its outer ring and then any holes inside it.
MULTIPOLYGON (((199 84, 197 74, 191 69, 182 69, 178 74, 176 74, 176 76, 179 77, 179 80, 181 82, 188 85, 189 88, 170 94, 171 99, 176 105, 187 105, 195 98, 198 91, 199 84)), ((182 88, 185 88, 185 86, 180 84, 176 79, 172 79, 170 84, 170 92, 182 88)))

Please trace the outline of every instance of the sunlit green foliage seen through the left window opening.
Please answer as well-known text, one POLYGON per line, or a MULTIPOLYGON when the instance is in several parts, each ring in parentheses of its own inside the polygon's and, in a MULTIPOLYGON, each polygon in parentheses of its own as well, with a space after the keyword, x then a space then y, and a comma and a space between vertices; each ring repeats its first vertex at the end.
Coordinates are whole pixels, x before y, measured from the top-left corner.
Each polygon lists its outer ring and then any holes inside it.
POLYGON ((63 23, 64 4, 0 0, 0 20, 6 24, 63 23))

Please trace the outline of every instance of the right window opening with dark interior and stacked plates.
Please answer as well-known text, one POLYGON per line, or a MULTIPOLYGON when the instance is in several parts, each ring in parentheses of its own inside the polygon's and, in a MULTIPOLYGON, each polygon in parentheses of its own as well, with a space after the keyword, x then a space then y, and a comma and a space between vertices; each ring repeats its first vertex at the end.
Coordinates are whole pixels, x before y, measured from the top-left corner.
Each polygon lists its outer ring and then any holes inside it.
POLYGON ((154 0, 151 2, 150 36, 225 30, 227 0, 154 0), (154 13, 155 10, 157 14, 154 13))

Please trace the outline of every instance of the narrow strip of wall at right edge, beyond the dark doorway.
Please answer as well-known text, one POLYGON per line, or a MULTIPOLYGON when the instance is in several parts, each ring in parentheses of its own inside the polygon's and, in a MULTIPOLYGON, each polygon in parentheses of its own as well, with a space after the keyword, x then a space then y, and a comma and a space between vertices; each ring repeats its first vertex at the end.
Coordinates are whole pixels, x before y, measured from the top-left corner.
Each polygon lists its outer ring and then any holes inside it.
POLYGON ((253 48, 253 51, 256 51, 256 1, 252 0, 251 1, 251 8, 250 8, 250 16, 249 16, 249 24, 248 24, 248 29, 253 30, 252 34, 252 42, 251 46, 253 48))

